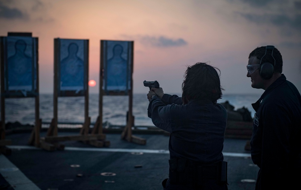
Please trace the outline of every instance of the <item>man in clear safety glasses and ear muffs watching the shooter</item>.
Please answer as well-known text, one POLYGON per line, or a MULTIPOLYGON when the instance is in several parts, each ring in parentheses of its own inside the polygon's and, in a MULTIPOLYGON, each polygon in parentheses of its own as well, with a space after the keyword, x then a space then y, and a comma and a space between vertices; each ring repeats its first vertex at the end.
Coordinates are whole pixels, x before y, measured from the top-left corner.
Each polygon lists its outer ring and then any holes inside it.
POLYGON ((282 65, 281 53, 271 45, 249 55, 251 86, 265 90, 252 104, 251 157, 259 167, 255 190, 301 189, 301 96, 282 65))

